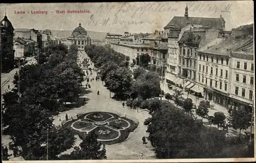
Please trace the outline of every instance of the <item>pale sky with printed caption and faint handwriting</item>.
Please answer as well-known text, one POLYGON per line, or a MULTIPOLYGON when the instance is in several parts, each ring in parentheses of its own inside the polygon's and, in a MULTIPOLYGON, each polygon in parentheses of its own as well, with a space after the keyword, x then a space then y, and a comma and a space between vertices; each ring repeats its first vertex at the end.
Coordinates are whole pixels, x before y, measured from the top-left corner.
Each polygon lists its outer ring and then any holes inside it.
POLYGON ((0 4, 0 18, 6 9, 14 29, 74 30, 81 23, 89 31, 151 33, 163 30, 174 16, 184 16, 186 4, 190 17, 222 14, 226 30, 254 20, 253 1, 0 4), (83 13, 68 13, 73 10, 83 13))

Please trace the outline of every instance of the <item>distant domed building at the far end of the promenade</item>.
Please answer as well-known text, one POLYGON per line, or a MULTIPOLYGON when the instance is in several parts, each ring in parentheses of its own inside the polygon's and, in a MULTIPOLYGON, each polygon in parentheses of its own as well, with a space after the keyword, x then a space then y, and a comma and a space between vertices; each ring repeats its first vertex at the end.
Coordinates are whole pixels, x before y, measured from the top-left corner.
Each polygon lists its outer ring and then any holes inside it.
POLYGON ((84 46, 91 45, 92 39, 87 35, 87 31, 79 23, 78 27, 74 29, 72 35, 68 37, 69 48, 71 44, 76 44, 78 49, 84 49, 84 46))

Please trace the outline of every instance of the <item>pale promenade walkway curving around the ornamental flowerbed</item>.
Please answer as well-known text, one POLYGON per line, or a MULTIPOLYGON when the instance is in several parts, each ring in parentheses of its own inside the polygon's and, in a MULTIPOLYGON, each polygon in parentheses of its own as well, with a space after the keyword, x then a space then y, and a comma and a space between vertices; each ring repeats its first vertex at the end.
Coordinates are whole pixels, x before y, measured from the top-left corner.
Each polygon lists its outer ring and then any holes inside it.
MULTIPOLYGON (((82 53, 83 55, 87 56, 85 52, 82 53)), ((91 67, 93 67, 91 65, 91 67)), ((92 75, 93 78, 96 77, 96 72, 93 72, 92 75)), ((91 78, 91 76, 90 76, 91 78)), ((85 85, 87 82, 82 82, 83 85, 85 85)), ((65 112, 61 112, 58 117, 55 117, 54 124, 60 125, 61 122, 65 119, 66 113, 68 113, 69 117, 76 117, 76 114, 80 111, 86 110, 86 109, 101 109, 104 111, 105 109, 112 109, 116 110, 120 113, 126 113, 127 115, 133 116, 136 119, 139 120, 139 126, 137 129, 135 129, 134 132, 130 134, 130 137, 126 139, 125 142, 114 144, 114 145, 106 145, 106 156, 108 159, 138 159, 140 152, 143 153, 144 159, 154 159, 155 153, 152 151, 153 147, 151 146, 151 143, 148 142, 146 145, 142 144, 142 136, 146 135, 146 126, 143 125, 143 122, 146 118, 150 117, 150 114, 148 114, 147 111, 139 110, 133 110, 129 107, 122 107, 122 102, 115 101, 110 98, 110 92, 107 90, 103 85, 101 81, 95 81, 89 82, 91 85, 91 88, 88 88, 92 92, 88 95, 86 95, 86 98, 90 99, 88 103, 84 106, 81 106, 79 108, 74 108, 72 110, 68 110, 65 112), (97 95, 97 91, 99 90, 100 95, 97 95), (61 121, 59 121, 59 118, 61 121)), ((113 96, 113 94, 112 94, 113 96)), ((76 145, 79 145, 81 142, 81 139, 78 137, 76 145)), ((70 153, 72 149, 63 152, 63 153, 70 153)))

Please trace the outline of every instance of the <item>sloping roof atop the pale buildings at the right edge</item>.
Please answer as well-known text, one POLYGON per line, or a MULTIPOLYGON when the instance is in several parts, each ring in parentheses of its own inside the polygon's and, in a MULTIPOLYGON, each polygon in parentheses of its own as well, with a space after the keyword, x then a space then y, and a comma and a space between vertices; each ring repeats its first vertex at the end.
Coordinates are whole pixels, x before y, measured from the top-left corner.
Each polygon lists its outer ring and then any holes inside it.
POLYGON ((244 39, 237 39, 234 37, 226 38, 225 40, 222 38, 217 38, 208 44, 202 46, 198 52, 203 53, 214 53, 220 55, 230 55, 231 51, 253 51, 252 46, 253 38, 247 37, 244 39))

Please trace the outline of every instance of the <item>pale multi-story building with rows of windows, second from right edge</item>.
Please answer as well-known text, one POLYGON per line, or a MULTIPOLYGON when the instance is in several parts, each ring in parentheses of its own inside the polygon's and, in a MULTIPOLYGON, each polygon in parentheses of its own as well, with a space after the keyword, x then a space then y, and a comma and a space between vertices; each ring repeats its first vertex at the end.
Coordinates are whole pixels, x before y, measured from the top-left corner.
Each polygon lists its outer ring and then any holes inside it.
MULTIPOLYGON (((200 90, 195 91, 204 93, 204 98, 213 100, 215 103, 228 107, 229 95, 234 89, 232 82, 232 51, 245 46, 251 38, 216 38, 198 50, 197 85, 200 90)), ((244 71, 241 69, 238 76, 238 83, 243 82, 244 71), (242 76, 242 78, 240 77, 242 76), (240 80, 241 79, 241 80, 240 80)), ((246 78, 246 77, 245 77, 246 78)), ((248 77, 249 78, 249 77, 248 77)), ((245 79, 246 80, 246 79, 245 79)), ((198 89, 199 89, 198 88, 198 89)), ((193 88, 191 88, 193 90, 193 88)), ((241 88, 240 88, 241 89, 241 88)), ((242 90, 243 91, 243 90, 242 90)), ((244 92, 243 92, 244 94, 244 92)), ((242 95, 242 94, 241 94, 242 95)), ((240 95, 240 96, 241 96, 240 95)))

